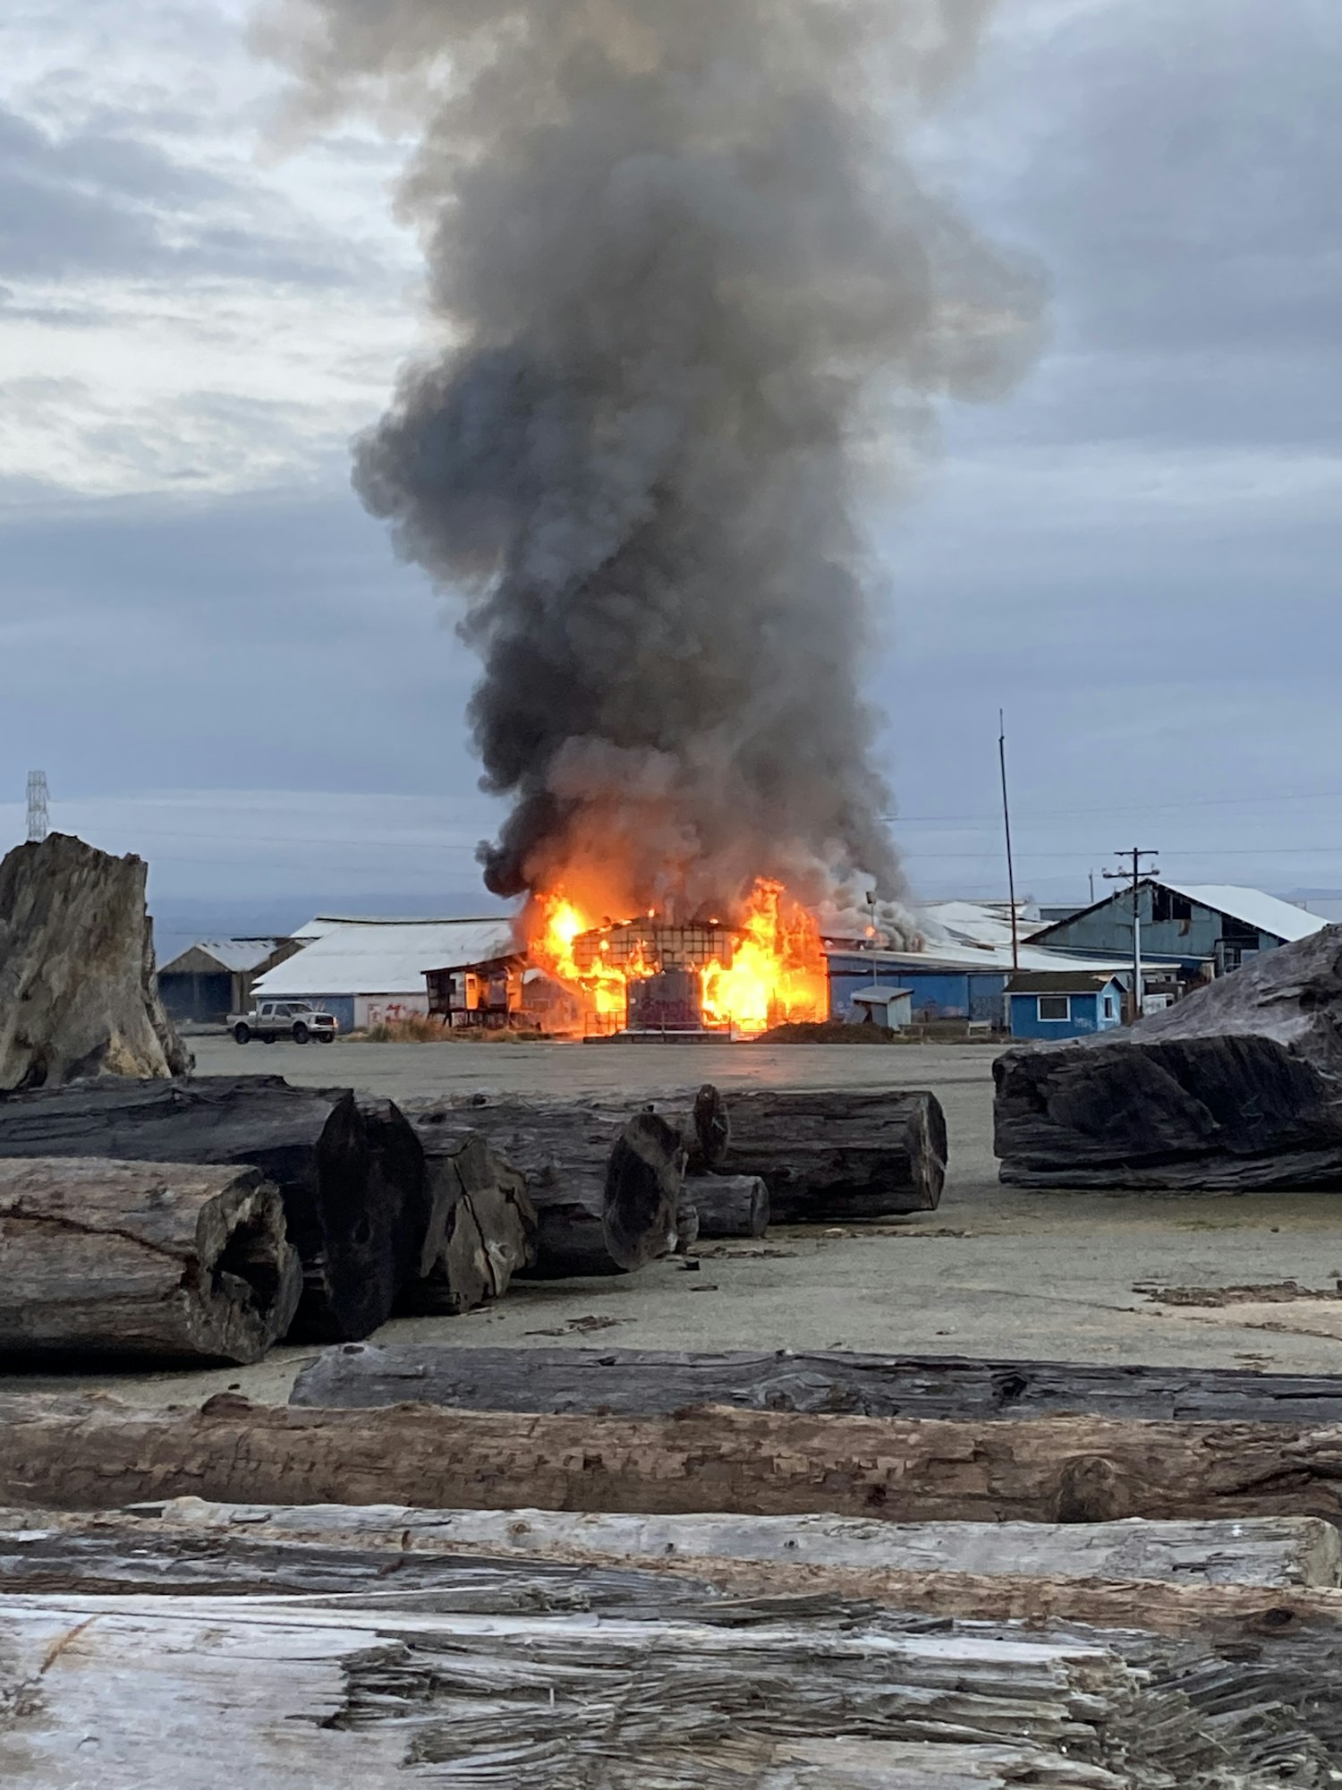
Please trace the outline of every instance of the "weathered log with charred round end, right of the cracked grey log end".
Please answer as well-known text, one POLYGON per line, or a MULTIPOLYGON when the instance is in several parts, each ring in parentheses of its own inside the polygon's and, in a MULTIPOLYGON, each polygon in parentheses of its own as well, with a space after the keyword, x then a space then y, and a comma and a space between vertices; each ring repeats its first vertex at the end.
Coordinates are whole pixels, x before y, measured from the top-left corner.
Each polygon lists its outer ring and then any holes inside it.
POLYGON ((685 1146, 653 1113, 506 1101, 420 1110, 413 1126, 429 1155, 435 1137, 480 1131, 522 1172, 537 1226, 535 1262, 519 1273, 626 1274, 676 1248, 685 1146))

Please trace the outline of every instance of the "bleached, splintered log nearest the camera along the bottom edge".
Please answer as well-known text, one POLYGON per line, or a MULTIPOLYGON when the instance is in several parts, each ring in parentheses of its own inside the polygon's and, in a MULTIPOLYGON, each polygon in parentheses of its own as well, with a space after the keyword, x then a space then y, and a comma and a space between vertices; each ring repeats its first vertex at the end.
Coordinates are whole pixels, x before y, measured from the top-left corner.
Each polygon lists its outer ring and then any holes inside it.
MULTIPOLYGON (((43 1790, 86 1781, 89 1740, 98 1790, 378 1790, 426 1776, 689 1790, 730 1781, 734 1760, 750 1770, 752 1752, 771 1769, 784 1738, 854 1736, 929 1756, 938 1745, 1043 1751, 1120 1769, 1117 1783, 1140 1790, 1229 1783, 1211 1774, 1244 1765, 1224 1726, 1104 1647, 870 1622, 726 1629, 349 1598, 327 1609, 9 1595, 0 1699, 21 1709, 4 1742, 5 1781, 43 1790)), ((755 1772, 753 1783, 769 1777, 755 1772)))

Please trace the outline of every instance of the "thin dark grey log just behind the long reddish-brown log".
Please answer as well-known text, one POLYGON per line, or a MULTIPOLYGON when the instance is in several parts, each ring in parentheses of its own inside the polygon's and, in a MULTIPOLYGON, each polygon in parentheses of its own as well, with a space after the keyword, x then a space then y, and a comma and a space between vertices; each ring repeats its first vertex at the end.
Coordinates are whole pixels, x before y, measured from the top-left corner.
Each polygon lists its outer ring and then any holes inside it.
POLYGON ((469 1411, 671 1416, 691 1405, 864 1418, 1091 1416, 1152 1421, 1342 1425, 1342 1377, 1235 1368, 964 1360, 954 1355, 673 1353, 666 1350, 447 1348, 365 1342, 297 1377, 295 1405, 406 1400, 469 1411))

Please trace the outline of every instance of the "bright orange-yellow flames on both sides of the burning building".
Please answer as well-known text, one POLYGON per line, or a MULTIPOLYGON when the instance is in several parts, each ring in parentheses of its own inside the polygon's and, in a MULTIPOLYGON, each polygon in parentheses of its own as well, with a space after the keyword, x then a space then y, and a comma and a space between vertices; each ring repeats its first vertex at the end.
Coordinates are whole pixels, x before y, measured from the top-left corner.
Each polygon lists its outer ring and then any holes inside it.
MULTIPOLYGON (((657 913, 648 920, 657 924, 657 913)), ((718 920, 709 922, 719 927, 718 920)), ((530 954, 537 968, 580 993, 585 1011, 599 1029, 628 1022, 632 981, 657 976, 660 963, 639 945, 624 963, 614 963, 608 938, 583 949, 578 940, 608 934, 565 891, 537 897, 530 954), (590 967, 585 967, 590 959, 590 967)), ((820 1020, 828 1013, 828 977, 820 927, 780 882, 759 881, 743 920, 730 929, 735 938, 726 959, 698 967, 703 1024, 732 1035, 757 1036, 771 1026, 820 1020)))

